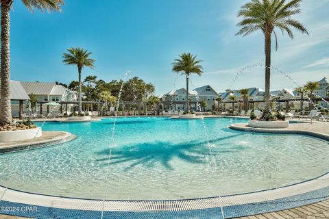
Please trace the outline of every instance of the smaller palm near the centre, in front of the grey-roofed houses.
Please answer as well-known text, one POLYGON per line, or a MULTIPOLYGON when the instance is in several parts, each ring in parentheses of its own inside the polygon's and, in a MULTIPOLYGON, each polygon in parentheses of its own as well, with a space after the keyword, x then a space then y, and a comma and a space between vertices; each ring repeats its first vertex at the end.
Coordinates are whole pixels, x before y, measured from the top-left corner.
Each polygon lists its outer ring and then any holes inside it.
POLYGON ((173 72, 182 73, 186 76, 186 111, 188 112, 188 79, 191 74, 201 75, 203 67, 199 65, 202 60, 195 60, 197 55, 193 56, 191 53, 183 53, 180 59, 175 59, 172 63, 173 72))

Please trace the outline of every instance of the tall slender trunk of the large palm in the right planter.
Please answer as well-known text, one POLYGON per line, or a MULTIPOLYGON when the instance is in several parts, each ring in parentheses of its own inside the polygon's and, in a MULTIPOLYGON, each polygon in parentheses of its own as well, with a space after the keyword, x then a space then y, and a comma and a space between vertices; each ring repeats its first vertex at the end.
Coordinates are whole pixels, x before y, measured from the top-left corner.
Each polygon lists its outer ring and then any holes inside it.
POLYGON ((269 112, 269 87, 271 77, 271 33, 265 32, 265 107, 264 114, 269 112))

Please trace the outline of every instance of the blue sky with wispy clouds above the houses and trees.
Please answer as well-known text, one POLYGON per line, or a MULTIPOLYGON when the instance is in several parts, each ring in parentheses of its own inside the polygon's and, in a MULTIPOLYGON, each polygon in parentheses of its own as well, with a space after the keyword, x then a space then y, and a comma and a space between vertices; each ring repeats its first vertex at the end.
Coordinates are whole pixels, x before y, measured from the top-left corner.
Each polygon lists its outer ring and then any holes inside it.
MULTIPOLYGON (((30 13, 20 1, 11 12, 11 78, 20 81, 77 79, 74 66, 62 64, 69 47, 93 52, 94 70, 110 81, 132 76, 154 83, 156 93, 185 86, 184 77, 171 72, 171 62, 191 52, 204 66, 202 77, 193 76, 193 86, 210 84, 221 92, 227 88, 264 87, 263 68, 245 66, 264 62, 260 32, 245 38, 238 31, 236 13, 247 0, 66 0, 62 13, 30 13)), ((304 0, 302 14, 295 18, 310 35, 295 31, 295 39, 278 36, 278 51, 272 66, 286 72, 295 83, 329 77, 329 0, 304 0)), ((273 48, 274 50, 274 48, 273 48)), ((272 73, 271 90, 294 88, 280 73, 272 73)))

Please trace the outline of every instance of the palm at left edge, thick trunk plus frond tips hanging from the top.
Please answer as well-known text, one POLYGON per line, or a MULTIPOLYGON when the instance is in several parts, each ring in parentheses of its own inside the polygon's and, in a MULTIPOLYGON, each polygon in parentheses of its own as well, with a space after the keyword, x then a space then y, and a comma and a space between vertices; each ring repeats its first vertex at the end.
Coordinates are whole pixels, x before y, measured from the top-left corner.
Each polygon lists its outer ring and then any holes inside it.
MULTIPOLYGON (((14 0, 0 0, 1 7, 1 75, 0 75, 0 125, 12 122, 10 103, 10 8, 14 0)), ((22 0, 23 4, 33 11, 60 10, 63 0, 22 0)))

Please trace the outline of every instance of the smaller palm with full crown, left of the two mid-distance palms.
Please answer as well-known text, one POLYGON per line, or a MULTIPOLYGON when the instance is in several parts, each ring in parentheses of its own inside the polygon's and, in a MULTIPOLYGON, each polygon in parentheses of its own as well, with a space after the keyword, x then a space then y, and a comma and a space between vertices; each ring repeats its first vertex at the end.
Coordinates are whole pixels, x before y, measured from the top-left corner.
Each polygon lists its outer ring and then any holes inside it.
POLYGON ((84 66, 88 66, 90 68, 94 68, 94 62, 95 60, 91 59, 89 56, 91 55, 88 50, 84 50, 80 47, 71 49, 67 49, 69 53, 63 54, 63 62, 67 65, 76 65, 77 66, 77 72, 79 73, 79 114, 81 114, 82 110, 82 95, 81 95, 81 72, 82 68, 84 66))

